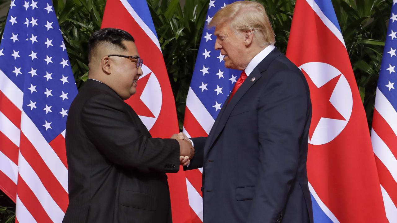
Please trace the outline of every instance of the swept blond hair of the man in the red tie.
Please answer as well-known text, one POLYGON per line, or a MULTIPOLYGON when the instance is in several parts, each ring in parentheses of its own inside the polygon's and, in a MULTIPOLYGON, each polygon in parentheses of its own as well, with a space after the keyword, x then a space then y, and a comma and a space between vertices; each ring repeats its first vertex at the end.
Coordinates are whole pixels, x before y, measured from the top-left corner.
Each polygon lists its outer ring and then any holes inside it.
POLYGON ((265 8, 258 2, 237 1, 220 9, 212 17, 208 27, 230 21, 237 31, 252 30, 266 44, 274 44, 274 31, 265 8))

